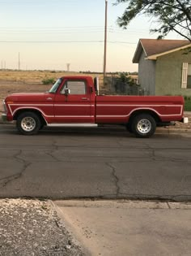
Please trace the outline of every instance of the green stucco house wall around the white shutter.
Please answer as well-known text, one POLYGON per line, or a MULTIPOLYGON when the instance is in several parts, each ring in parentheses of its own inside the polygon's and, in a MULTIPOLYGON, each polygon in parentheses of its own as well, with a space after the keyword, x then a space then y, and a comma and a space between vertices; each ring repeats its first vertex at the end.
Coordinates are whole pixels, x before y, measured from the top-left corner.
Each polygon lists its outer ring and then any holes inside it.
POLYGON ((191 53, 180 50, 159 57, 156 61, 155 94, 189 95, 191 89, 181 89, 182 63, 191 63, 191 53))

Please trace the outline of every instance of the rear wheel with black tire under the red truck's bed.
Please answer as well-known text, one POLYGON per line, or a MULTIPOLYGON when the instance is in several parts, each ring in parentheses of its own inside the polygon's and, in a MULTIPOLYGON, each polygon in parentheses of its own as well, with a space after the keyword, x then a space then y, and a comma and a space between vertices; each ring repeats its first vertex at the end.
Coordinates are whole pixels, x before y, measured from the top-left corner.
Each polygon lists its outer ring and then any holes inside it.
POLYGON ((134 117, 131 128, 136 137, 148 138, 155 133, 156 122, 151 115, 140 114, 134 117))

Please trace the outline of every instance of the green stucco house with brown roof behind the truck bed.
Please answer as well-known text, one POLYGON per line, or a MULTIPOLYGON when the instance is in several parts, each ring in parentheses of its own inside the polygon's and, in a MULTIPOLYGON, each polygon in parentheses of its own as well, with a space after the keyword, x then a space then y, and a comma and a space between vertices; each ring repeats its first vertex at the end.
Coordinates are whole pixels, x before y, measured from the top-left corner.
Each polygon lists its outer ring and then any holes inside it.
POLYGON ((139 40, 133 63, 146 94, 191 96, 190 47, 188 40, 139 40))

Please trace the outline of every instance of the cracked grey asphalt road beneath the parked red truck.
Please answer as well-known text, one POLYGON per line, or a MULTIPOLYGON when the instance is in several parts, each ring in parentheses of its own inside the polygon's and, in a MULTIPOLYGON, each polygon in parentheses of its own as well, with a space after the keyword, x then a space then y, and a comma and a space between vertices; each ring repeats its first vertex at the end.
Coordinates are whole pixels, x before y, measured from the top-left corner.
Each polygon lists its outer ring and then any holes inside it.
POLYGON ((191 200, 191 137, 0 125, 0 197, 191 200))

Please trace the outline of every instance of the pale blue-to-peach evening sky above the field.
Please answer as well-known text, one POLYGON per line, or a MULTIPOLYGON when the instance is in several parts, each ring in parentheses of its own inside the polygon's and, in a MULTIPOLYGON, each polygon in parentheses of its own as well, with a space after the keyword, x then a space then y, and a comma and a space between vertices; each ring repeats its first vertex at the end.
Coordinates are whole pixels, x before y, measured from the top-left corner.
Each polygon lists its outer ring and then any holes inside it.
MULTIPOLYGON (((140 15, 119 28, 125 4, 115 2, 108 0, 106 71, 137 72, 138 40, 157 38, 149 32, 156 23, 140 15)), ((70 71, 103 72, 104 17, 105 0, 0 0, 0 68, 63 71, 70 63, 70 71)))

